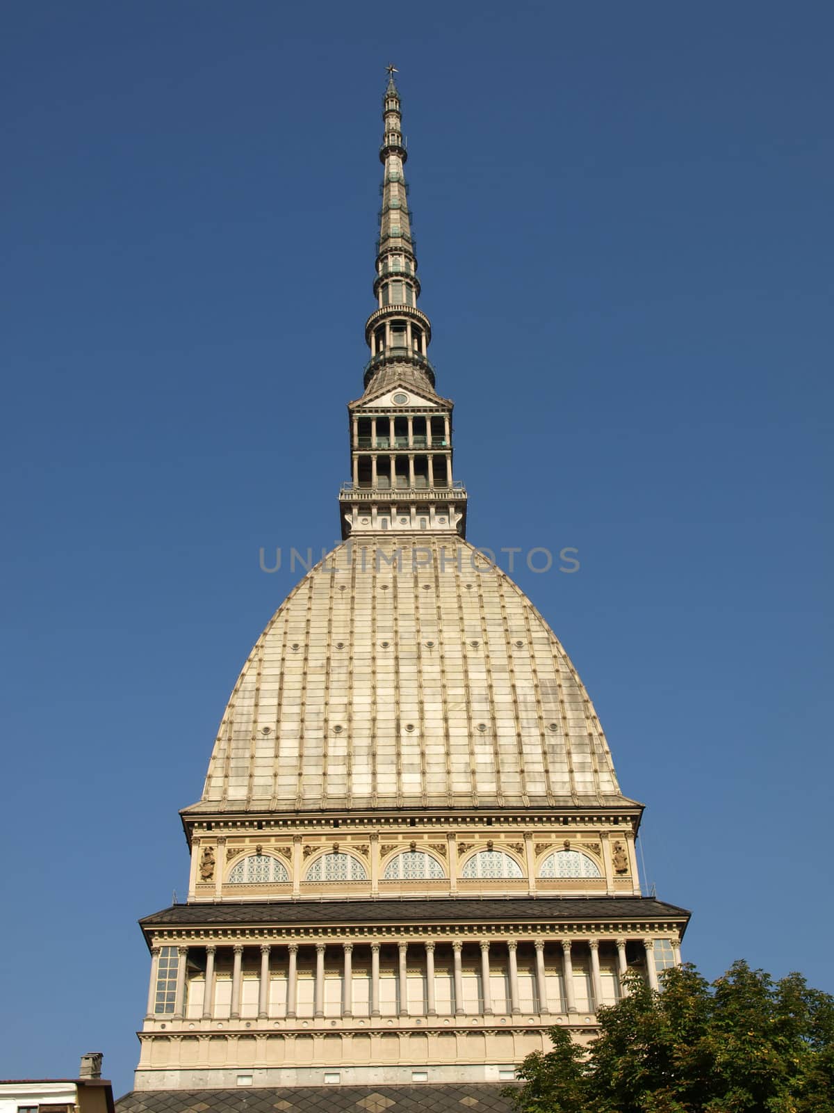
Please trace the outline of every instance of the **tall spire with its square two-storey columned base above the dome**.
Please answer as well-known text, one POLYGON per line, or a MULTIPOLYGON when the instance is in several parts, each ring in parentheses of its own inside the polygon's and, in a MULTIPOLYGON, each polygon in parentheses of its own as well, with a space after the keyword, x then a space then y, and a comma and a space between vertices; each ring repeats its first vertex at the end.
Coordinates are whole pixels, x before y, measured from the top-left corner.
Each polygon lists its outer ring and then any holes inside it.
POLYGON ((466 491, 451 477, 453 403, 435 393, 427 355, 431 323, 417 307, 420 280, 403 170, 408 154, 397 70, 387 70, 377 307, 365 323, 365 394, 348 406, 351 477, 339 492, 341 535, 426 530, 464 536, 466 491))

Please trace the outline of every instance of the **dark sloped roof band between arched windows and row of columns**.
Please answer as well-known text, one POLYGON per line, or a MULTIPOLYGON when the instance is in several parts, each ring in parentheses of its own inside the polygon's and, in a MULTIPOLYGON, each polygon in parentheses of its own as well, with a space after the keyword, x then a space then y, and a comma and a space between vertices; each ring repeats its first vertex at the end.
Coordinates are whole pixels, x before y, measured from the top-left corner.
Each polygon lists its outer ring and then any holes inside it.
POLYGON ((688 920, 689 912, 654 897, 497 897, 427 900, 276 900, 271 904, 222 900, 177 904, 145 916, 142 927, 241 926, 285 924, 461 924, 506 920, 688 920))

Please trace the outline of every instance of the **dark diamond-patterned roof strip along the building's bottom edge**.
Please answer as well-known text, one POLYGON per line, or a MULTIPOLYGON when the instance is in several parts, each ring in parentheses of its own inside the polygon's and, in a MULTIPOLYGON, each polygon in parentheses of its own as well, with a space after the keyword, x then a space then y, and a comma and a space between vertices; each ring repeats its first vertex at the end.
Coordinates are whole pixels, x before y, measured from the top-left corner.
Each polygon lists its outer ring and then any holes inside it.
POLYGON ((278 1086, 132 1091, 117 1113, 509 1113, 503 1085, 278 1086))

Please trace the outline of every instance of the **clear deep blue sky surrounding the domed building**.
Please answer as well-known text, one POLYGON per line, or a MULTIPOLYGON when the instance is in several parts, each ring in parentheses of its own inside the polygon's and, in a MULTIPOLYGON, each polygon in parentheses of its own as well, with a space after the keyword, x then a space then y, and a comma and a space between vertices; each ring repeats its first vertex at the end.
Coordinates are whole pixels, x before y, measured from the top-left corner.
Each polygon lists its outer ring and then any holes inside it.
POLYGON ((647 805, 685 957, 834 991, 826 2, 7 0, 0 1076, 129 1089, 238 669, 337 536, 384 66, 475 543, 647 805))

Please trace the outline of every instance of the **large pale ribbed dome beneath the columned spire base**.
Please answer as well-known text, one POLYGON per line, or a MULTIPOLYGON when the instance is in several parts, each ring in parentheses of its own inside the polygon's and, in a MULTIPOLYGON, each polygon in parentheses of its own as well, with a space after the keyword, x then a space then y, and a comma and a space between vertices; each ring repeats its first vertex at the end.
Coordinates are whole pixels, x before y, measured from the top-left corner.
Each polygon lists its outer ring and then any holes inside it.
POLYGON ((367 544, 272 617, 187 810, 622 802, 590 699, 513 581, 459 539, 367 544))

